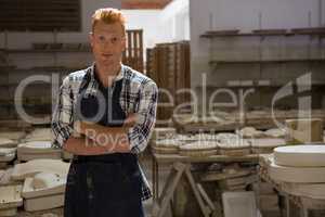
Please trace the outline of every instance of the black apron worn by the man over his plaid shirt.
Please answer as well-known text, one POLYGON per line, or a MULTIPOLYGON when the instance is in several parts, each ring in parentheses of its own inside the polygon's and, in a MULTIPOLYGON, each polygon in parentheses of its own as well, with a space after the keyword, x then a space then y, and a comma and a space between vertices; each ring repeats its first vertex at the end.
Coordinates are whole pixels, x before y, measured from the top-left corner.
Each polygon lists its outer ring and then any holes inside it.
MULTIPOLYGON (((122 79, 115 82, 113 94, 100 85, 106 99, 105 115, 96 123, 118 127, 126 118, 119 97, 122 79), (112 118, 107 116, 112 114, 112 118)), ((99 108, 95 97, 81 91, 83 118, 93 117, 99 108)), ((89 120, 89 119, 88 119, 89 120)), ((141 171, 131 153, 74 156, 66 183, 64 217, 143 217, 141 171)))

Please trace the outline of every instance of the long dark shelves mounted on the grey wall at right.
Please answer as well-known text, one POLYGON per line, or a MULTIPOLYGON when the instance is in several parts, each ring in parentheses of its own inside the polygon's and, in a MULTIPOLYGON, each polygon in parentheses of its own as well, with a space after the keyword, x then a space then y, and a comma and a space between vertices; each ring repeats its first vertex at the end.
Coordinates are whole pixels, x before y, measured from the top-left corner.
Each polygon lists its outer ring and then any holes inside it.
MULTIPOLYGON (((282 68, 286 68, 287 64, 291 63, 304 63, 308 64, 308 68, 311 69, 312 64, 323 64, 325 63, 325 56, 323 56, 323 52, 320 51, 320 58, 312 58, 311 56, 311 41, 317 37, 320 48, 323 46, 323 40, 325 38, 325 28, 296 28, 288 31, 287 29, 258 29, 252 30, 251 33, 239 33, 238 29, 234 30, 209 30, 205 34, 200 35, 200 38, 207 38, 210 40, 210 61, 209 64, 212 68, 212 72, 217 72, 219 67, 226 66, 226 65, 258 65, 259 67, 259 78, 261 79, 263 67, 268 64, 282 64, 282 68), (280 58, 280 59, 263 59, 262 54, 262 47, 263 41, 268 37, 280 37, 283 39, 284 44, 286 44, 286 40, 296 37, 296 36, 309 36, 309 43, 307 48, 307 56, 301 59, 292 59, 292 58, 280 58), (222 40, 233 40, 234 38, 257 38, 259 42, 258 47, 258 58, 251 60, 218 60, 212 56, 213 50, 213 39, 222 39, 222 40)), ((236 39, 237 40, 237 39, 236 39)), ((282 51, 282 55, 284 52, 282 51)), ((315 85, 320 85, 317 82, 315 85)), ((314 85, 314 84, 313 84, 314 85)), ((325 85, 325 84, 324 84, 325 85)), ((280 87, 281 84, 272 85, 270 87, 280 87)), ((218 86, 219 87, 219 86, 218 86)), ((246 86, 243 86, 246 87, 246 86)), ((261 87, 261 86, 252 86, 252 87, 261 87)), ((227 86, 230 88, 230 86, 227 86)), ((232 88, 232 87, 231 87, 232 88)))

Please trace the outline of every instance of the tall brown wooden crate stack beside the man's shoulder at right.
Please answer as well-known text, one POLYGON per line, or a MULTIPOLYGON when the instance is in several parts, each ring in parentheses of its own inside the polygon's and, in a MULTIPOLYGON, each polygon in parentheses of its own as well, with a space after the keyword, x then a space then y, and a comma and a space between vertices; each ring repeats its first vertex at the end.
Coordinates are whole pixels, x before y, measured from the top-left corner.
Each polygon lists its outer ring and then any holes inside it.
POLYGON ((166 91, 173 98, 174 106, 157 110, 159 120, 169 119, 177 105, 190 101, 190 95, 178 93, 180 89, 190 88, 190 43, 158 43, 154 49, 146 50, 146 74, 157 82, 160 90, 159 102, 170 102, 166 91))

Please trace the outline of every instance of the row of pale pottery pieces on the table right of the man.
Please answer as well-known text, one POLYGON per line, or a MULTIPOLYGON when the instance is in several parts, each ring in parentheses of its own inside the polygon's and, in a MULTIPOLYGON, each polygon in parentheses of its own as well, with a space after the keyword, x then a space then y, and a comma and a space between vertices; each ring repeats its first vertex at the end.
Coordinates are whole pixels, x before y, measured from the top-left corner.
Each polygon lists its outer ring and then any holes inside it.
POLYGON ((285 131, 270 129, 260 131, 245 127, 236 132, 179 135, 174 128, 156 128, 151 148, 155 154, 182 156, 230 155, 270 153, 275 146, 284 145, 285 131))

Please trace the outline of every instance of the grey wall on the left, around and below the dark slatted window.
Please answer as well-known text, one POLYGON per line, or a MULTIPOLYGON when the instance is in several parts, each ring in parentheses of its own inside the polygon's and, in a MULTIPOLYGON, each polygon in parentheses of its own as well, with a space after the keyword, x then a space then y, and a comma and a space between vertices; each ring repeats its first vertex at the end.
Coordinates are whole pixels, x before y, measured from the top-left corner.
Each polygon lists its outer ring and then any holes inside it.
MULTIPOLYGON (((88 42, 91 30, 91 15, 99 8, 120 8, 119 0, 80 0, 81 1, 81 31, 79 33, 0 33, 0 49, 31 49, 34 42, 88 42)), ((35 69, 34 67, 65 66, 81 68, 92 62, 90 52, 16 52, 9 54, 11 65, 17 68, 0 67, 0 119, 16 118, 13 104, 14 93, 21 80, 31 75, 57 75, 60 80, 68 73, 67 69, 35 69)), ((69 69, 73 71, 73 69, 69 69)), ((57 84, 52 84, 57 86, 57 84)), ((50 84, 30 84, 24 91, 23 98, 28 102, 25 108, 30 114, 51 113, 50 84)))

